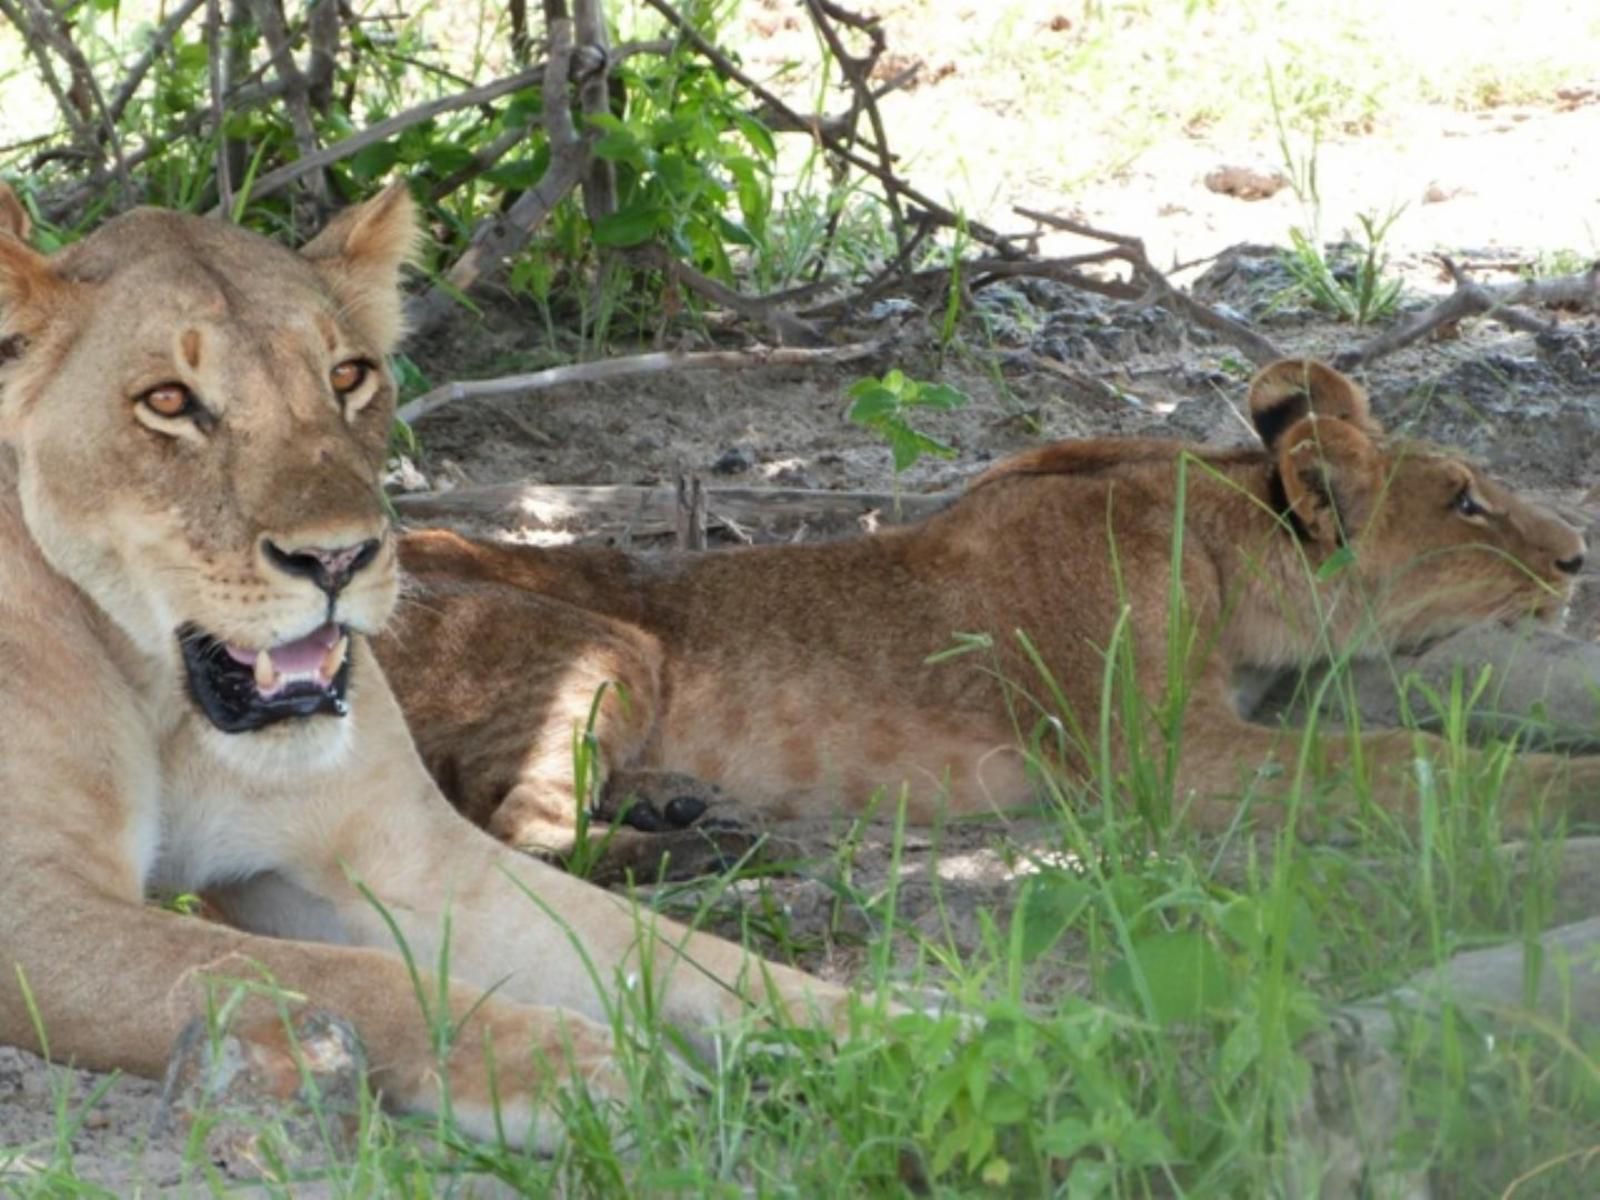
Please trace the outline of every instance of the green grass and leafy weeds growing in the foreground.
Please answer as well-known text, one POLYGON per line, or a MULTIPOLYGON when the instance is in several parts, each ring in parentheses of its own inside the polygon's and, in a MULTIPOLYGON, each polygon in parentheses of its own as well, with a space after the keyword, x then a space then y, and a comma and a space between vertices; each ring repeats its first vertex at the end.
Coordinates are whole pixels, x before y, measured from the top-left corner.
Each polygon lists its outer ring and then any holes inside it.
MULTIPOLYGON (((1125 659, 1107 662, 1107 707, 1120 712, 1125 659)), ((1338 694, 1334 678, 1325 698, 1338 694)), ((1438 696, 1453 747, 1474 699, 1470 682, 1438 696)), ((1096 722, 1085 726, 1096 741, 1096 722)), ((699 1064, 704 1091, 669 1067, 677 1042, 635 1014, 645 1032, 626 1056, 629 1102, 568 1098, 570 1141, 554 1158, 368 1104, 352 1149, 315 1178, 341 1197, 467 1195, 475 1179, 534 1195, 1307 1194, 1323 1166, 1320 1123, 1301 1115, 1307 1038, 1339 1003, 1549 925, 1562 843, 1520 864, 1501 851, 1493 770, 1438 771, 1411 832, 1366 811, 1341 845, 1200 838, 1162 819, 1173 808, 1165 746, 1152 731, 1146 747, 1139 762, 1102 766, 1090 789, 1042 770, 1048 819, 1011 850, 1014 904, 974 914, 965 934, 899 915, 902 830, 886 872, 858 870, 850 835, 818 867, 838 906, 874 930, 862 986, 936 990, 947 1011, 864 1003, 837 1046, 752 1024, 699 1064)), ((1294 803, 1309 805, 1315 786, 1294 803)), ((781 902, 752 901, 749 888, 672 888, 656 902, 731 917, 765 952, 814 962, 814 931, 789 930, 781 902)), ((827 930, 821 939, 834 941, 827 930)), ((1398 1117, 1370 1131, 1379 1184, 1429 1171, 1437 1195, 1502 1195, 1518 1178, 1520 1198, 1592 1194, 1582 1152, 1600 1142, 1600 1034, 1456 1011, 1405 1029, 1398 1117)), ((98 1096, 74 1106, 64 1085, 54 1094, 56 1136, 0 1149, 0 1162, 21 1154, 38 1170, 0 1173, 0 1190, 98 1194, 72 1152, 98 1096)), ((270 1147, 272 1130, 262 1136, 270 1147)), ((288 1146, 264 1158, 304 1162, 288 1146)), ((208 1186, 200 1139, 189 1170, 208 1186)), ((304 1166, 282 1170, 264 1194, 306 1186, 291 1174, 304 1166)))

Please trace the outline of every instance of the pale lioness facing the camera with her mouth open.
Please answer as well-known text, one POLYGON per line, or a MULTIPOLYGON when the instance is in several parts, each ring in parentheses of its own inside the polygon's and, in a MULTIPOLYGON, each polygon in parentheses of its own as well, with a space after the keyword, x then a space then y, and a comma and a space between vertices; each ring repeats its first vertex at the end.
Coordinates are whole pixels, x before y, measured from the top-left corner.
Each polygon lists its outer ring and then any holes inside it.
MULTIPOLYGON (((0 1042, 38 1046, 34 1005, 56 1058, 158 1074, 208 987, 270 979, 354 1021, 390 1104, 435 1109, 443 1070, 493 1136, 498 1080, 506 1133, 549 1146, 552 1083, 622 1086, 600 1018, 624 978, 691 1037, 746 982, 842 1016, 838 989, 498 845, 424 770, 366 643, 397 590, 403 189, 299 254, 150 210, 51 258, 27 232, 0 189, 0 1042), (357 885, 419 963, 453 918, 443 1064, 357 885), (238 930, 150 888, 205 888, 238 930)), ((242 1035, 280 1042, 253 1003, 242 1035)))

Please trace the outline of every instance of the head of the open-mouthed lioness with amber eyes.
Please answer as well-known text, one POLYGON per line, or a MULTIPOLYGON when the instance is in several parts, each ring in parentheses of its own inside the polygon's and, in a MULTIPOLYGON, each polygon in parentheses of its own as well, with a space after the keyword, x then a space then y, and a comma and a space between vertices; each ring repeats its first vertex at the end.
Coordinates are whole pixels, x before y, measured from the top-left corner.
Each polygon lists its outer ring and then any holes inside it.
POLYGON ((40 552, 219 730, 342 714, 350 635, 395 602, 379 474, 410 198, 299 254, 141 210, 46 259, 8 211, 0 437, 40 552))

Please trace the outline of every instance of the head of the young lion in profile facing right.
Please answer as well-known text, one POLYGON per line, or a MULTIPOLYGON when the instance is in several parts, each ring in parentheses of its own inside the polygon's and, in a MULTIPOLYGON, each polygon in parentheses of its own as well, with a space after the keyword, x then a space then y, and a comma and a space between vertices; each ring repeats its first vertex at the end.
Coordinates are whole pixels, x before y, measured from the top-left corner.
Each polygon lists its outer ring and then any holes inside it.
POLYGON ((1349 547, 1342 570, 1384 643, 1565 610, 1584 565, 1578 530, 1459 456, 1386 437, 1366 392, 1339 371, 1272 363, 1251 384, 1250 410, 1277 464, 1282 510, 1320 562, 1349 547))

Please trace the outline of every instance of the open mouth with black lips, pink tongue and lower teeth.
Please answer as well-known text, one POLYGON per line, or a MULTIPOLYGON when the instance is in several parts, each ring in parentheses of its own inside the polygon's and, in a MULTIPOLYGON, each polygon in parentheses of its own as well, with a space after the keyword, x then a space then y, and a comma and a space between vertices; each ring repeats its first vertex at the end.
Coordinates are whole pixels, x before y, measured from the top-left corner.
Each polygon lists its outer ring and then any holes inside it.
POLYGON ((184 626, 178 630, 189 694, 222 733, 248 733, 291 717, 349 712, 350 634, 326 624, 264 650, 237 646, 184 626))

